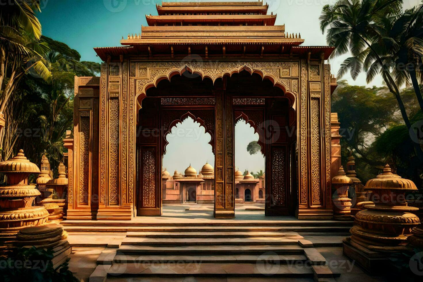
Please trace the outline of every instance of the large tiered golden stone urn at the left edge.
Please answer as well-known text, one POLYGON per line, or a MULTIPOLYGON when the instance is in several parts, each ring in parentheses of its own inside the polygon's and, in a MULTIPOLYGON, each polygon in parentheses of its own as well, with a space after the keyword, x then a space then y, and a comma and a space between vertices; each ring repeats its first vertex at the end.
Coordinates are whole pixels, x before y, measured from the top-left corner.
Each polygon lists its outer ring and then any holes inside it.
POLYGON ((35 185, 28 184, 28 176, 40 170, 25 157, 23 150, 0 162, 0 172, 7 178, 7 185, 0 187, 0 240, 8 241, 24 227, 44 224, 49 213, 44 207, 32 206, 40 192, 35 185))

